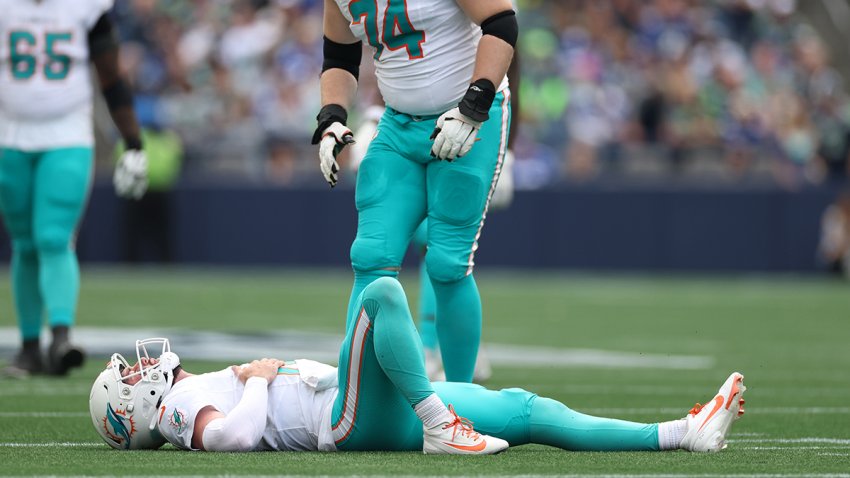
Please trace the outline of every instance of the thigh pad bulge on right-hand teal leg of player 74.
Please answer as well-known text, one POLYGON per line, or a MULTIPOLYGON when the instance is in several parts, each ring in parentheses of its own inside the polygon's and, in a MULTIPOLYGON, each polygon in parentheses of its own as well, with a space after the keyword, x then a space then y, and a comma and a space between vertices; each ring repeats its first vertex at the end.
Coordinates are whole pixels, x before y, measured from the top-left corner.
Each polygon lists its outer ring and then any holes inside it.
POLYGON ((485 185, 479 176, 465 171, 446 170, 440 179, 450 186, 437 191, 431 202, 431 214, 455 226, 477 223, 484 214, 490 185, 485 185))

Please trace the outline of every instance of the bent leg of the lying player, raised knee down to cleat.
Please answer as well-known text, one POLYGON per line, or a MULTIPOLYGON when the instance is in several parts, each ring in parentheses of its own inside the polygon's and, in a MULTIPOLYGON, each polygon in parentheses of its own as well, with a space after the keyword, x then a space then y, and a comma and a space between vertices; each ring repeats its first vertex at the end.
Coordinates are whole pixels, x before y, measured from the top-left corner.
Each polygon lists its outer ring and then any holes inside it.
POLYGON ((460 419, 425 376, 422 345, 396 279, 375 280, 358 299, 357 319, 340 351, 340 393, 331 418, 338 448, 481 454, 507 447, 496 439, 479 446, 480 437, 463 431, 454 436, 460 419), (423 434, 439 439, 439 446, 429 448, 426 438, 423 448, 423 434))

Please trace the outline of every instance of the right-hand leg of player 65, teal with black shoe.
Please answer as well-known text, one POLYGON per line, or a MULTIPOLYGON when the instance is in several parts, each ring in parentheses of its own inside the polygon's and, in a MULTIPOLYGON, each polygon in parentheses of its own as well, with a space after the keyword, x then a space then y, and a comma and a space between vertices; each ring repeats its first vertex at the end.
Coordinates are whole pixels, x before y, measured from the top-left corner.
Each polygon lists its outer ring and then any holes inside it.
POLYGON ((82 364, 79 348, 68 341, 74 325, 80 270, 74 234, 91 184, 91 148, 44 152, 35 173, 33 238, 39 258, 39 287, 53 342, 48 349, 50 372, 64 375, 82 364))

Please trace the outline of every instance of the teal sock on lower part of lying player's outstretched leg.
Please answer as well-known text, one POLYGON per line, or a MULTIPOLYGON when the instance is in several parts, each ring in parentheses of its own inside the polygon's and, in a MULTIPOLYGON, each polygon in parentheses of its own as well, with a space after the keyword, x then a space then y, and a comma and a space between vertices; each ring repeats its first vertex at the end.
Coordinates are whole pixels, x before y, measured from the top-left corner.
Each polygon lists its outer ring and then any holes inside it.
POLYGON ((659 450, 658 424, 600 418, 537 397, 529 416, 531 443, 573 451, 659 450))

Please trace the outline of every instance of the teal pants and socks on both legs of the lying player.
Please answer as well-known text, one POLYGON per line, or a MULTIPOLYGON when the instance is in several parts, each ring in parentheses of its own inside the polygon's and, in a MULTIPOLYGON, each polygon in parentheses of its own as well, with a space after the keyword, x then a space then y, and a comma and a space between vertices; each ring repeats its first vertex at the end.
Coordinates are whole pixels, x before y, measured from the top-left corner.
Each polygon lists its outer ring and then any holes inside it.
POLYGON ((331 426, 337 448, 421 450, 422 422, 413 407, 436 391, 477 431, 508 441, 565 450, 658 450, 658 425, 584 415, 518 388, 430 383, 422 345, 401 284, 378 279, 357 299, 339 355, 339 394, 331 426))

